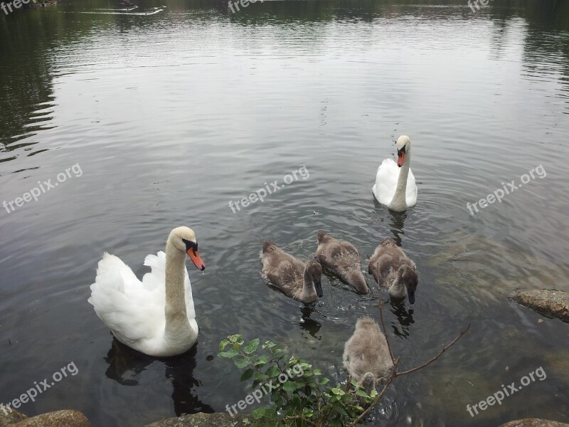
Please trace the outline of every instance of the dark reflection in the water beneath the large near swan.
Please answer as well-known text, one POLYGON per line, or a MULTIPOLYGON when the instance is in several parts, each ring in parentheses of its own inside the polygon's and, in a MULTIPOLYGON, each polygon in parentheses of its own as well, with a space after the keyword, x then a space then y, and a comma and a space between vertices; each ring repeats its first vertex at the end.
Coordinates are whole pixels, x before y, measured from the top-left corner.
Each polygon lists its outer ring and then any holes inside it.
POLYGON ((172 400, 176 416, 197 412, 213 413, 211 406, 192 394, 192 389, 201 386, 200 381, 193 376, 197 352, 198 344, 180 356, 156 359, 112 339, 112 346, 105 357, 105 362, 109 364, 105 376, 123 386, 138 386, 139 378, 147 367, 154 362, 161 362, 165 367, 164 376, 173 387, 172 400))

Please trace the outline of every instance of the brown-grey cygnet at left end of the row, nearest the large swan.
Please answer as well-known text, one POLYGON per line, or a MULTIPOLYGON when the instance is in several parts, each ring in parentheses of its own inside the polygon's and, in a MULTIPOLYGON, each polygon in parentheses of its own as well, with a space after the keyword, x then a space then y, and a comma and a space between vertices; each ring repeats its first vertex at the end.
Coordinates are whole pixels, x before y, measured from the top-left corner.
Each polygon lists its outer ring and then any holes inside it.
POLYGON ((315 260, 308 260, 306 265, 292 255, 277 248, 272 241, 262 245, 261 275, 267 285, 282 290, 288 297, 304 304, 310 304, 321 297, 322 267, 315 260))

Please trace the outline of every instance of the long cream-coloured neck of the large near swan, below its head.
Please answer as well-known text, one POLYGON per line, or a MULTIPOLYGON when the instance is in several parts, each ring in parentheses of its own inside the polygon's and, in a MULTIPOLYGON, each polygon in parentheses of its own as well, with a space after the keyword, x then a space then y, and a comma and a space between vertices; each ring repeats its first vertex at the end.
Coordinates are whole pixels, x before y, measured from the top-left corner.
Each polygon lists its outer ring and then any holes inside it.
POLYGON ((176 249, 169 241, 166 243, 166 338, 176 339, 181 332, 189 329, 186 313, 186 254, 176 249))

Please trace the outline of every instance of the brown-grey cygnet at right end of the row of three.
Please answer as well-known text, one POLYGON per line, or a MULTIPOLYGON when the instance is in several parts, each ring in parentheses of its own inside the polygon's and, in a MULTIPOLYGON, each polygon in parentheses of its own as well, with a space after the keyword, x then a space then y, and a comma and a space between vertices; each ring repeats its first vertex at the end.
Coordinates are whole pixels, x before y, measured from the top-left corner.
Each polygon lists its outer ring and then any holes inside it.
POLYGON ((393 238, 384 238, 371 255, 368 273, 373 275, 378 285, 388 288, 393 300, 403 300, 408 296, 409 302, 415 303, 417 268, 393 238))

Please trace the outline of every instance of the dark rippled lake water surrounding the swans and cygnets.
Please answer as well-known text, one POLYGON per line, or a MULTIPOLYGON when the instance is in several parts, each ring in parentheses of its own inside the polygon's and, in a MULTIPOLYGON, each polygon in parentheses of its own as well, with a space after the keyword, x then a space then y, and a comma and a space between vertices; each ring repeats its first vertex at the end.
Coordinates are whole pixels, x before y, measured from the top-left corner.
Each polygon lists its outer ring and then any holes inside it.
POLYGON ((415 260, 415 305, 385 307, 405 369, 472 322, 438 362, 395 381, 370 425, 569 421, 569 325, 509 299, 569 290, 567 2, 137 5, 130 16, 103 0, 0 12, 0 203, 58 182, 0 209, 0 402, 73 362, 77 375, 20 410, 73 408, 105 427, 224 411, 250 392, 233 364, 209 360, 233 333, 344 381, 344 342, 387 293, 369 275, 365 297, 325 278, 309 313, 260 276, 263 241, 307 259, 325 230, 358 248, 364 270, 385 237, 415 260), (418 203, 393 214, 371 186, 402 134, 418 203), (306 179, 230 209, 303 166, 306 179), (103 251, 142 277, 179 225, 208 266, 188 263, 198 344, 142 357, 113 344, 89 286, 103 251), (539 367, 543 381, 467 412, 539 367))

